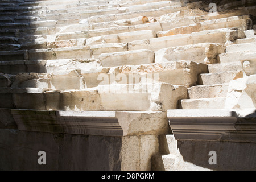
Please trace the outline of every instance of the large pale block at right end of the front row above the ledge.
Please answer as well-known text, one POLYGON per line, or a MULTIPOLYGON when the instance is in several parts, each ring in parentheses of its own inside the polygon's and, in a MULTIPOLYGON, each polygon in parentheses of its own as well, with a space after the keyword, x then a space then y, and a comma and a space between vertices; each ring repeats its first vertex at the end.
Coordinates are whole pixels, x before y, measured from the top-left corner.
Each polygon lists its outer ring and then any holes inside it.
POLYGON ((177 101, 187 98, 187 88, 171 84, 117 84, 117 92, 128 89, 127 93, 108 93, 111 85, 100 86, 101 106, 104 110, 166 111, 177 108, 177 101), (128 88, 127 88, 128 87, 128 88), (130 89, 131 88, 131 89, 130 89), (131 91, 131 92, 130 92, 131 91), (135 94, 133 93, 135 92, 135 94), (136 101, 136 104, 134 104, 136 101), (124 105, 125 104, 125 105, 124 105))

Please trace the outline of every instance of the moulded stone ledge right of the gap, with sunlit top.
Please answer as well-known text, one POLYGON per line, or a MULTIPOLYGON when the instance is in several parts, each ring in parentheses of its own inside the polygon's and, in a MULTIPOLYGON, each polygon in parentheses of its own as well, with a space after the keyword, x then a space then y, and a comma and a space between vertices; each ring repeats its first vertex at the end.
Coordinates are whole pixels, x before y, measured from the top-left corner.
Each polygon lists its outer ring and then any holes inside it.
POLYGON ((168 110, 176 140, 256 142, 255 109, 168 110))

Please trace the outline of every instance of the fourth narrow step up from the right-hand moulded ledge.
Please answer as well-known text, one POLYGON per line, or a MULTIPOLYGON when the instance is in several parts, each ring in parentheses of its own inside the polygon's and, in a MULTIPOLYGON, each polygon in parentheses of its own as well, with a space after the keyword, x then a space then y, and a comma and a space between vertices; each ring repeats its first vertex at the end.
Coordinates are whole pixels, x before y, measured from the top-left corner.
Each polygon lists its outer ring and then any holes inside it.
POLYGON ((238 61, 221 64, 208 64, 209 73, 220 73, 227 71, 242 70, 242 64, 238 61))

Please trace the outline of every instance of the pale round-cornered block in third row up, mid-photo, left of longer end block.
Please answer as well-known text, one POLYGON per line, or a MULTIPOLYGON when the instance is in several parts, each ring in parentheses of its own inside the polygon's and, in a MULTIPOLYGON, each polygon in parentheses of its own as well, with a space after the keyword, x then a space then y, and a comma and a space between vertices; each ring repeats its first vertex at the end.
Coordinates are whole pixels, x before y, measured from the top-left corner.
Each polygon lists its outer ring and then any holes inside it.
POLYGON ((103 67, 115 67, 119 65, 135 65, 154 63, 154 52, 142 49, 138 51, 103 53, 99 57, 103 67))

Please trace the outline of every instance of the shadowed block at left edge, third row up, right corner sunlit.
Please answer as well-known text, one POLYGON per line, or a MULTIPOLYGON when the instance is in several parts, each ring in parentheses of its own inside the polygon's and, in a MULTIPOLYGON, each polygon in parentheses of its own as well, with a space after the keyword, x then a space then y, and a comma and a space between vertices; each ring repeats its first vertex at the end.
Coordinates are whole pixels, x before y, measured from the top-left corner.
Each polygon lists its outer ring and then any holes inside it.
POLYGON ((44 60, 19 60, 0 61, 0 72, 17 75, 18 73, 45 73, 46 61, 44 60))

